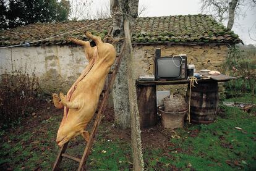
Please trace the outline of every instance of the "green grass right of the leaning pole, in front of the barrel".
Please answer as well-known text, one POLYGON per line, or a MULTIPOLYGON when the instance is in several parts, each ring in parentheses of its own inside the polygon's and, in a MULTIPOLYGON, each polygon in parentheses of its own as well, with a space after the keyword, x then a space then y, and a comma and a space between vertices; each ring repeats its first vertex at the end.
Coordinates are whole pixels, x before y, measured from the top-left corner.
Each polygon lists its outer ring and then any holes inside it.
POLYGON ((147 170, 168 170, 170 165, 189 170, 189 164, 195 170, 256 170, 255 114, 236 107, 224 109, 225 119, 218 117, 209 125, 186 125, 176 130, 181 138, 171 139, 173 146, 167 150, 146 149, 147 170), (192 137, 195 130, 199 133, 192 137))

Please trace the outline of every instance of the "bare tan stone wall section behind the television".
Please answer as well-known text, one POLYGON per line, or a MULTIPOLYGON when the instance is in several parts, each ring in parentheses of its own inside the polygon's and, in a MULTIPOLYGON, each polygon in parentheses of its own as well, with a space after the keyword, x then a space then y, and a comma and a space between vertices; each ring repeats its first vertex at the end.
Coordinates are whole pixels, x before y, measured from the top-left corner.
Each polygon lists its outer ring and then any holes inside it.
MULTIPOLYGON (((161 48, 161 56, 187 54, 187 63, 194 64, 196 72, 200 69, 221 70, 221 65, 228 54, 226 45, 135 45, 136 77, 154 74, 155 49, 161 48)), ((157 90, 171 90, 184 94, 187 85, 158 86, 157 90)))

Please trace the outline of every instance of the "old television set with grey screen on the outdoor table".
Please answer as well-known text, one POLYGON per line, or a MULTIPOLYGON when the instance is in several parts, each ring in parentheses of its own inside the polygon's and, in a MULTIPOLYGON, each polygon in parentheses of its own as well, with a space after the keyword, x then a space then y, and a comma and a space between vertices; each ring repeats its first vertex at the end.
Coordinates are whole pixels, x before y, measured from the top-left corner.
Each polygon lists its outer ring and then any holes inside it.
POLYGON ((187 56, 161 57, 161 49, 155 52, 155 80, 186 80, 187 56))

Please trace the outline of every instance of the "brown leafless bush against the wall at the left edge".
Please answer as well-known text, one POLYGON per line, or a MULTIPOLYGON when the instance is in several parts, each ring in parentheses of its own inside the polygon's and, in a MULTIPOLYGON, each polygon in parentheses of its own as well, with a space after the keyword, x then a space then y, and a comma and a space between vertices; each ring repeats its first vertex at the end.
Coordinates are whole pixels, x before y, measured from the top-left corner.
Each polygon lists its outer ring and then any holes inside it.
POLYGON ((38 78, 22 70, 0 77, 0 124, 9 125, 22 117, 33 106, 39 90, 38 78))

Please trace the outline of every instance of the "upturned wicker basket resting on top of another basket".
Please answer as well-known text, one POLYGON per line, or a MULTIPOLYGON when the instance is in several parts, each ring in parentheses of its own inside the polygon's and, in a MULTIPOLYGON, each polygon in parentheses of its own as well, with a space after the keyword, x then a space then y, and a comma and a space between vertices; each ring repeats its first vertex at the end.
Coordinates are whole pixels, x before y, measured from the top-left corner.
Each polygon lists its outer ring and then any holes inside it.
POLYGON ((181 112, 189 109, 186 101, 180 94, 171 94, 163 99, 165 112, 181 112))

